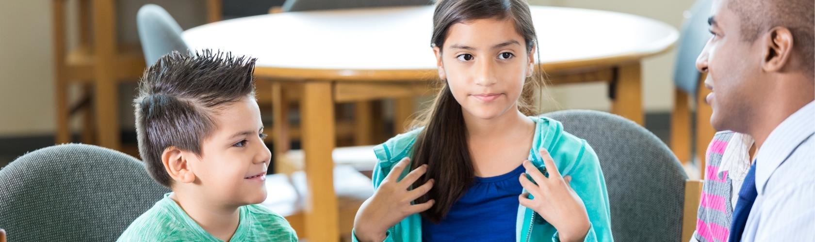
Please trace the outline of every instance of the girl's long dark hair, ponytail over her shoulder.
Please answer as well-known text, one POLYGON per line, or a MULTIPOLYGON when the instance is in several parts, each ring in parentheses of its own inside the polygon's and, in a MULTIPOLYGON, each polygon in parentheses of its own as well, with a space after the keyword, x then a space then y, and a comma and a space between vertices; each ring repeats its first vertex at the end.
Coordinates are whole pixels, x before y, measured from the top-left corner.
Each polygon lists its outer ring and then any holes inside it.
MULTIPOLYGON (((511 19, 516 31, 526 41, 527 54, 537 43, 529 5, 524 0, 442 0, 433 14, 431 45, 443 49, 447 31, 453 24, 468 23, 476 19, 511 19)), ((523 84, 518 109, 525 115, 535 115, 531 105, 535 91, 544 84, 544 72, 540 67, 535 76, 523 84)), ((427 164, 427 173, 416 181, 418 187, 434 179, 433 189, 416 200, 421 203, 434 199, 435 205, 421 215, 438 223, 453 203, 464 195, 474 180, 474 168, 467 145, 467 131, 461 106, 450 92, 447 80, 441 80, 441 89, 433 105, 413 123, 413 127, 425 127, 416 138, 412 166, 427 164)))

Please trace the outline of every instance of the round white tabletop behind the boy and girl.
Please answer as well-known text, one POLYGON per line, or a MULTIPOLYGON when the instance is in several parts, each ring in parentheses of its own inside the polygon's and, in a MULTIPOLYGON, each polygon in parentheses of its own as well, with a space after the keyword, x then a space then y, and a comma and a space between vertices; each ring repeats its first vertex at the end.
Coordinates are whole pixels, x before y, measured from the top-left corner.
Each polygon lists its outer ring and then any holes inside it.
MULTIPOLYGON (((668 50, 676 28, 637 15, 531 6, 544 67, 609 58, 644 58, 668 50)), ((258 68, 434 70, 433 6, 287 12, 191 28, 194 50, 229 50, 258 58, 258 68)))

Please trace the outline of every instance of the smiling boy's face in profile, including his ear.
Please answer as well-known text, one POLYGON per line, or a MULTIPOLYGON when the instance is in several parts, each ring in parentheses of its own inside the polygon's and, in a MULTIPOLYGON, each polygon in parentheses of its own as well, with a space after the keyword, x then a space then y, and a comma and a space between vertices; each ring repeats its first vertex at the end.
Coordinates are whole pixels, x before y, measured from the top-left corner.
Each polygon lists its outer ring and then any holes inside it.
MULTIPOLYGON (((258 102, 244 97, 214 113, 215 131, 201 144, 199 158, 187 160, 206 197, 223 205, 266 200, 271 152, 263 143, 258 102)), ((193 156, 194 157, 194 156, 193 156)))

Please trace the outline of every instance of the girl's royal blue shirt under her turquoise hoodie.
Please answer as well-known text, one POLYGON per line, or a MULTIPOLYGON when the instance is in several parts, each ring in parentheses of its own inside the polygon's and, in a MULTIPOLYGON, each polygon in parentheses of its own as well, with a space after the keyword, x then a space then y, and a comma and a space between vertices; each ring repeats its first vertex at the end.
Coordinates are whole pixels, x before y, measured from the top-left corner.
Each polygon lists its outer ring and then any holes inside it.
POLYGON ((523 171, 518 166, 504 175, 475 177, 440 223, 421 218, 422 241, 515 241, 523 171))

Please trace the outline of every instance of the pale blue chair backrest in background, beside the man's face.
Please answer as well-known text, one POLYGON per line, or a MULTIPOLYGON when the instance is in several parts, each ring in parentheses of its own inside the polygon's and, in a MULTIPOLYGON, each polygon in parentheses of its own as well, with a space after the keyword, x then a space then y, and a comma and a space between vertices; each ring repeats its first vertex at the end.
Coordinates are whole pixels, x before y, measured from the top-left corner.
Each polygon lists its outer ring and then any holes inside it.
POLYGON ((674 63, 673 82, 676 88, 689 93, 692 97, 697 94, 699 73, 696 70, 696 58, 710 39, 711 33, 707 31, 707 17, 711 15, 711 0, 698 0, 685 11, 685 23, 682 24, 679 45, 676 48, 676 63, 674 63))

